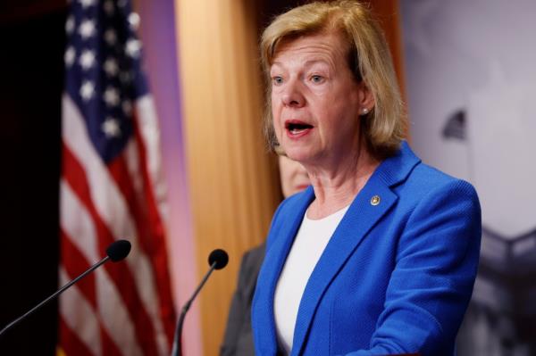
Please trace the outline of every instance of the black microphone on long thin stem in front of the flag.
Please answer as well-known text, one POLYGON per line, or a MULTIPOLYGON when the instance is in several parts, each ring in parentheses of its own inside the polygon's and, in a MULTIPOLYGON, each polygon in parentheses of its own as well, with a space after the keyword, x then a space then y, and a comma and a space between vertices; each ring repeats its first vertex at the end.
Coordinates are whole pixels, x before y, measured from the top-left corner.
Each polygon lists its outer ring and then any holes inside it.
POLYGON ((46 298, 46 300, 44 300, 43 302, 38 303, 38 305, 28 310, 25 314, 21 315, 21 317, 14 319, 11 323, 9 323, 6 327, 4 327, 2 331, 0 331, 0 336, 2 336, 10 328, 14 327, 16 324, 18 324, 21 320, 28 318, 30 314, 33 314, 34 311, 41 308, 47 302, 52 301, 55 297, 62 294, 67 288, 77 283, 80 279, 88 276, 89 273, 93 272, 95 269, 100 267, 102 264, 104 264, 108 260, 112 260, 113 262, 118 262, 118 261, 123 260, 125 257, 129 255, 130 247, 131 247, 130 242, 128 242, 127 240, 118 240, 118 241, 115 241, 113 244, 110 244, 108 248, 106 248, 106 257, 104 259, 96 262, 96 264, 91 266, 88 270, 82 273, 79 277, 76 277, 73 280, 71 280, 71 282, 61 287, 56 293, 46 298))

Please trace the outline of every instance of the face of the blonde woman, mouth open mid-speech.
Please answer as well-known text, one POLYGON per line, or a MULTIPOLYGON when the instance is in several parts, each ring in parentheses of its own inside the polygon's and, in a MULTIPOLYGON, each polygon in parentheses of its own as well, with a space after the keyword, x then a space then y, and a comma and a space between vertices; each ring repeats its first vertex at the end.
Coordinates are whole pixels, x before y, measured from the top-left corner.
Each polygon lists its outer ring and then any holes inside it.
POLYGON ((347 53, 337 33, 278 46, 270 70, 273 127, 292 160, 329 165, 356 149, 359 112, 371 95, 354 79, 347 53))

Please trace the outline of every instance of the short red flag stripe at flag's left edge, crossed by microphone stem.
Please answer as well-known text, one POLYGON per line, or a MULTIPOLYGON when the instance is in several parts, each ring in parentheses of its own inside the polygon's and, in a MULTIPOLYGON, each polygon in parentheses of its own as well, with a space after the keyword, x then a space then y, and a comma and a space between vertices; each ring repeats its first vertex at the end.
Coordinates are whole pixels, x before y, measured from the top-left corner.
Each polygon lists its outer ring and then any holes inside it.
MULTIPOLYGON (((62 241, 63 268, 70 279, 74 279, 85 272, 91 264, 86 260, 84 255, 80 253, 79 249, 72 244, 72 236, 68 236, 65 231, 63 231, 63 228, 60 229, 60 238, 62 241)), ((77 286, 80 289, 80 293, 84 294, 84 297, 88 300, 93 309, 97 310, 95 284, 95 275, 90 273, 88 276, 81 279, 77 283, 77 286)))

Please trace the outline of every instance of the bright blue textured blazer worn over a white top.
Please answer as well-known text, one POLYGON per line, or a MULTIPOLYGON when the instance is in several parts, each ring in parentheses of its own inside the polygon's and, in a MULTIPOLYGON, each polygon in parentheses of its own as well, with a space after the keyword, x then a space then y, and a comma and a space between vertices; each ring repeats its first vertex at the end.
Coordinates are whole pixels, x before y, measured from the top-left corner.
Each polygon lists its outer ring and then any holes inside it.
MULTIPOLYGON (((272 219, 252 306, 257 355, 277 353, 273 294, 313 200, 309 186, 272 219)), ((291 354, 454 354, 481 229, 473 186, 423 164, 403 143, 356 196, 314 267, 291 354)))

